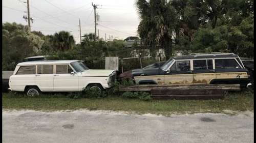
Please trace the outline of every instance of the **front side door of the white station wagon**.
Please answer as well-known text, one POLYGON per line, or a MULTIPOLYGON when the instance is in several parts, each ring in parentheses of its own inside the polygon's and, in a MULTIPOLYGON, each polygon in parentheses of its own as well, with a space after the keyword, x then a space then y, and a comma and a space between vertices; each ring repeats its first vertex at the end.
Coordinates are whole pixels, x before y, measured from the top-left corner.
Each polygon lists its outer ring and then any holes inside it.
POLYGON ((78 76, 68 64, 55 65, 54 91, 75 92, 78 91, 78 76))

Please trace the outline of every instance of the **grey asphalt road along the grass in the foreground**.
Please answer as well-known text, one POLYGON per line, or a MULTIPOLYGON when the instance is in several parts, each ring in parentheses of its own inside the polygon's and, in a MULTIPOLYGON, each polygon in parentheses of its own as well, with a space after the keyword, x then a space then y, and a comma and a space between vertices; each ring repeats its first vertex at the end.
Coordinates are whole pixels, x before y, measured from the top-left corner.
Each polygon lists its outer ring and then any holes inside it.
POLYGON ((236 116, 3 110, 3 142, 253 142, 253 112, 236 116))

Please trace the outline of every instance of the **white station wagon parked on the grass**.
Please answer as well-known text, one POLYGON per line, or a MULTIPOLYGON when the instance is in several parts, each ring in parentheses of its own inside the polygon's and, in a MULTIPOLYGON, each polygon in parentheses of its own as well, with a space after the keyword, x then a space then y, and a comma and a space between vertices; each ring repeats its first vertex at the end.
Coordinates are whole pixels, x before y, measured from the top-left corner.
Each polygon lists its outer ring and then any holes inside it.
POLYGON ((9 79, 9 90, 26 92, 78 92, 108 89, 116 78, 114 70, 91 70, 81 61, 32 61, 17 64, 9 79))

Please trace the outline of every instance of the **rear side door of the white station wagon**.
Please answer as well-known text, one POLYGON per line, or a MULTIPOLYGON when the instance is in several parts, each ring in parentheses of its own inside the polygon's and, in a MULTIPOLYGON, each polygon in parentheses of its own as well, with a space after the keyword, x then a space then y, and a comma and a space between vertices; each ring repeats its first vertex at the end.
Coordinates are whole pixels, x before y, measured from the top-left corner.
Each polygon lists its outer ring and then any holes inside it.
POLYGON ((35 81, 42 92, 52 92, 53 86, 53 65, 37 65, 35 81))

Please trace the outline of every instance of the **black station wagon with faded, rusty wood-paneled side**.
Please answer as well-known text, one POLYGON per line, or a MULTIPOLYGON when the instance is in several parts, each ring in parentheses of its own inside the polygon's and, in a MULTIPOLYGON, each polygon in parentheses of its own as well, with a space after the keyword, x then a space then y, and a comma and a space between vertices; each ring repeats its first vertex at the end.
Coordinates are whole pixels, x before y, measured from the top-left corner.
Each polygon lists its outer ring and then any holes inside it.
POLYGON ((248 70, 234 53, 199 53, 171 58, 161 67, 132 70, 139 84, 240 84, 249 87, 248 70))

